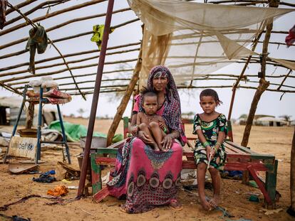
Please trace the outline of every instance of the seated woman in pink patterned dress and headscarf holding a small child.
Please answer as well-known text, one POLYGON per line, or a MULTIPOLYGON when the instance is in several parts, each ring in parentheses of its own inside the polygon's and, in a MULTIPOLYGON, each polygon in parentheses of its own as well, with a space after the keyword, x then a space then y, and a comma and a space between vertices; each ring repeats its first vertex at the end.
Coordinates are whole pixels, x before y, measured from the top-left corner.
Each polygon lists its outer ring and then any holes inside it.
MULTIPOLYGON (((157 92, 157 114, 165 119, 170 134, 164 136, 162 145, 167 151, 154 151, 152 142, 144 131, 126 141, 118 150, 113 179, 108 183, 110 195, 126 196, 122 210, 128 213, 145 212, 159 205, 170 205, 181 210, 177 203, 177 184, 182 168, 182 145, 187 141, 182 130, 180 97, 170 70, 155 66, 148 77, 148 87, 157 92), (179 141, 180 144, 177 142, 179 141)), ((131 126, 138 112, 143 112, 142 99, 137 97, 131 126)))

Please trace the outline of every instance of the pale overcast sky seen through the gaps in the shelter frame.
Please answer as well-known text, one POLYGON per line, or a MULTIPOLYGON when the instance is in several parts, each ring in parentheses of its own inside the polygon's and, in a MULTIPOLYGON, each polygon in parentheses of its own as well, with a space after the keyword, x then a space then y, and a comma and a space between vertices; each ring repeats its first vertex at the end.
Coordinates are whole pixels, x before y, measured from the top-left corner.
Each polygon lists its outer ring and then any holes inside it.
MULTIPOLYGON (((11 4, 19 4, 21 1, 10 1, 11 4)), ((38 4, 41 1, 38 1, 38 4)), ((74 4, 77 4, 76 1, 74 1, 74 4)), ((83 2, 83 1, 80 1, 83 2)), ((292 1, 285 1, 285 2, 290 2, 292 1)), ((71 4, 71 1, 69 1, 69 4, 71 4)), ((93 5, 90 7, 87 7, 86 9, 83 9, 83 14, 85 15, 90 15, 90 14, 98 14, 98 13, 105 13, 106 11, 106 6, 107 6, 107 1, 103 4, 98 4, 98 5, 93 5), (99 6, 99 7, 98 7, 99 6)), ((114 10, 116 9, 122 9, 128 7, 127 1, 116 1, 115 0, 115 6, 114 10)), ((26 7, 23 10, 27 11, 29 8, 26 7)), ((52 11, 56 11, 58 9, 53 7, 52 11)), ((37 11, 36 13, 30 15, 31 18, 37 17, 44 15, 46 13, 46 10, 41 10, 37 11)), ((12 18, 16 16, 16 14, 12 13, 9 14, 9 18, 12 18)), ((75 13, 69 13, 67 14, 67 19, 70 18, 75 18, 76 14, 75 13)), ((111 26, 114 26, 118 23, 121 23, 122 21, 122 14, 116 14, 112 18, 112 23, 111 26)), ((124 16, 130 16, 130 19, 136 18, 135 14, 133 11, 128 11, 127 13, 124 13, 124 16)), ((62 18, 62 17, 61 17, 62 18)), ((59 19, 59 17, 54 17, 52 19, 48 19, 48 21, 41 21, 41 24, 46 27, 53 26, 54 23, 56 23, 56 19, 59 19)), ((64 19, 64 17, 63 17, 64 19)), ((59 21, 59 20, 58 20, 59 21)), ((23 21, 21 21, 23 22, 23 21)), ((73 25, 67 26, 67 33, 64 34, 63 36, 67 36, 71 33, 76 33, 77 28, 83 29, 83 28, 88 28, 86 30, 92 29, 93 22, 96 23, 104 23, 104 18, 96 18, 95 21, 86 21, 85 23, 80 24, 79 27, 73 25)), ((289 14, 286 14, 284 16, 281 16, 280 18, 276 19, 274 22, 274 31, 289 31, 289 29, 294 26, 295 24, 295 12, 291 12, 289 14)), ((135 22, 132 23, 125 28, 118 28, 118 30, 115 30, 113 33, 110 34, 109 42, 108 45, 120 45, 123 43, 133 43, 133 42, 138 42, 142 39, 142 33, 141 33, 141 28, 140 28, 141 22, 135 22)), ((0 36, 0 45, 3 43, 7 43, 9 41, 12 41, 14 39, 19 39, 19 36, 21 38, 24 38, 27 36, 27 32, 29 31, 29 28, 24 28, 24 30, 19 30, 15 31, 12 35, 4 35, 0 36)), ((5 28, 4 28, 5 30, 5 28)), ((60 38, 60 34, 58 31, 53 31, 48 34, 48 36, 51 39, 56 39, 60 38)), ((286 36, 284 35, 278 35, 274 34, 271 36, 270 41, 280 41, 284 42, 284 38, 286 36)), ((87 36, 86 38, 76 38, 75 41, 69 41, 69 43, 56 43, 58 47, 62 48, 62 53, 73 53, 77 51, 77 47, 85 47, 88 48, 88 45, 92 44, 89 41, 90 36, 87 36)), ((263 36, 262 36, 263 39, 263 36)), ((17 50, 22 50, 24 49, 26 43, 21 43, 16 45, 17 50)), ((11 47, 12 48, 12 47, 11 47)), ((6 48, 3 50, 0 50, 0 55, 7 53, 8 51, 11 50, 11 48, 6 48)), ((257 52, 261 52, 262 50, 262 44, 257 46, 257 52)), ((15 51, 15 49, 14 49, 15 51)), ((285 58, 289 60, 295 60, 295 47, 291 46, 290 48, 286 48, 285 45, 280 45, 279 48, 277 48, 277 45, 270 45, 269 46, 269 53, 270 56, 273 58, 285 58)), ((56 55, 56 52, 54 52, 53 48, 49 48, 49 50, 46 50, 46 55, 38 55, 38 59, 45 58, 46 56, 53 56, 56 55), (43 57, 45 56, 45 57, 43 57)), ((124 55, 125 57, 122 58, 120 55, 116 57, 119 60, 123 60, 128 58, 138 58, 138 51, 135 51, 133 53, 128 53, 128 55, 124 55)), ((21 56, 16 56, 13 59, 4 59, 0 60, 0 67, 7 66, 7 65, 12 65, 15 63, 24 63, 28 60, 28 55, 21 55, 21 56)), ((108 57, 106 58, 105 61, 108 61, 108 57)), ((95 62, 98 62, 96 60, 95 62)), ((93 62, 92 62, 93 63, 93 62)), ((135 65, 135 63, 130 63, 130 65, 135 65)), ((71 66, 71 65, 70 65, 71 66)), ((235 74, 239 75, 240 72, 242 71, 243 64, 233 64, 229 65, 225 68, 222 68, 220 70, 217 70, 216 73, 223 73, 223 74, 235 74)), ((105 66, 104 70, 108 70, 108 65, 105 66)), ((90 72, 96 72, 96 67, 89 68, 90 72)), ((246 74, 252 74, 255 75, 259 71, 259 65, 251 65, 250 68, 247 68, 246 74)), ((76 71, 73 71, 74 73, 76 71)), ((284 75, 288 72, 288 70, 284 68, 272 68, 272 67, 267 67, 266 68, 266 75, 284 75)), ((67 73, 68 74, 68 73, 67 73)), ((172 73, 173 74, 173 73, 172 73)), ((291 73, 291 75, 294 75, 294 73, 291 73)), ((128 76, 131 76, 131 73, 128 73, 128 76)), ((271 82, 276 82, 280 83, 281 78, 277 80, 271 79, 271 82)), ((222 82, 223 85, 231 85, 234 82, 222 82)), ((295 85, 295 78, 288 78, 285 82, 286 85, 295 85)), ((195 85, 197 86, 212 86, 212 85, 220 85, 220 82, 217 81, 200 81, 200 82, 195 82, 195 85)), ((251 84, 248 84, 251 86, 251 84)), ((257 84, 253 84, 257 85, 257 84)), ((274 87, 275 88, 275 87, 274 87)), ((222 112, 225 115, 228 114, 229 112, 229 104, 232 96, 232 90, 230 88, 225 88, 225 89, 216 89, 217 93, 219 94, 219 99, 222 100, 223 104, 217 108, 217 112, 222 112)), ((182 113, 185 112, 202 112, 200 109, 200 104, 199 104, 199 95, 202 90, 199 89, 190 89, 190 90, 179 90, 180 93, 180 99, 181 99, 181 104, 182 104, 182 113)), ((252 103, 252 99, 254 96, 255 90, 247 90, 247 89, 239 89, 236 92, 235 96, 235 101, 234 101, 234 107, 232 111, 232 118, 237 119, 241 114, 248 114, 249 109, 252 103)), ((273 115, 275 117, 279 117, 281 115, 290 115, 292 116, 291 119, 295 119, 295 105, 294 105, 294 98, 295 94, 294 93, 286 93, 283 97, 281 97, 280 92, 264 92, 262 95, 262 98, 259 101, 258 107, 257 107, 257 112, 256 114, 267 114, 267 115, 273 115), (281 99, 280 99, 281 98, 281 99)), ((6 90, 0 89, 0 96, 12 96, 11 92, 8 92, 6 90)), ((14 95, 15 96, 15 95, 14 95)), ((78 109, 83 109, 85 112, 83 113, 83 117, 88 117, 90 114, 90 108, 91 108, 91 102, 92 102, 92 95, 87 95, 87 101, 84 101, 81 96, 73 96, 73 100, 67 104, 61 105, 61 110, 63 114, 70 115, 74 114, 76 116, 79 116, 80 114, 78 113, 78 109)), ((97 109, 97 116, 98 117, 113 117, 115 115, 116 109, 118 105, 120 104, 120 97, 115 97, 113 93, 100 93, 100 97, 98 99, 98 109, 97 109)), ((131 102, 129 102, 128 107, 125 110, 125 113, 123 114, 124 116, 130 116, 131 113, 131 102)))

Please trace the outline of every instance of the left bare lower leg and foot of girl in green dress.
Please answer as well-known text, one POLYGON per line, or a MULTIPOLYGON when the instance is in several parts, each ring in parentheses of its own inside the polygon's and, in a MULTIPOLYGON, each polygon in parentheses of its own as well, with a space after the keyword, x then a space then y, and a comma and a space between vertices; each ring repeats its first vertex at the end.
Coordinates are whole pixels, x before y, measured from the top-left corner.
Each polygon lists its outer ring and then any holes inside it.
POLYGON ((204 210, 211 210, 211 205, 206 200, 206 195, 205 195, 206 171, 207 171, 207 164, 206 163, 198 163, 197 164, 197 190, 199 192, 201 205, 204 210))

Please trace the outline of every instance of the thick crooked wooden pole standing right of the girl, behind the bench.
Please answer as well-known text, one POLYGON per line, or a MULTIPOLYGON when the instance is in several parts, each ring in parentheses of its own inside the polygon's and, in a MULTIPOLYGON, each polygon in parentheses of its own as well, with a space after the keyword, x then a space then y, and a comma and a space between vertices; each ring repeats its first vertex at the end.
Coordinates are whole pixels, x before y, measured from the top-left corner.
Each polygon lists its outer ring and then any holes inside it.
MULTIPOLYGON (((269 0, 269 6, 270 7, 277 7, 277 6, 279 6, 279 1, 278 0, 269 0)), ((255 116, 255 112, 257 109, 259 99, 262 96, 263 92, 267 89, 267 87, 269 87, 269 82, 265 80, 266 56, 267 56, 269 38, 271 36, 271 29, 272 29, 272 23, 274 21, 274 18, 269 18, 269 19, 267 19, 267 21, 269 21, 269 23, 266 25, 266 33, 265 33, 264 43, 263 43, 263 48, 262 48, 262 77, 259 80, 259 87, 257 88, 257 91, 255 92, 255 95, 252 100, 251 108, 249 110, 246 126, 244 129, 244 135, 243 135, 243 139, 242 139, 242 143, 241 143, 242 146, 248 145, 250 131, 252 128, 253 119, 255 116)))

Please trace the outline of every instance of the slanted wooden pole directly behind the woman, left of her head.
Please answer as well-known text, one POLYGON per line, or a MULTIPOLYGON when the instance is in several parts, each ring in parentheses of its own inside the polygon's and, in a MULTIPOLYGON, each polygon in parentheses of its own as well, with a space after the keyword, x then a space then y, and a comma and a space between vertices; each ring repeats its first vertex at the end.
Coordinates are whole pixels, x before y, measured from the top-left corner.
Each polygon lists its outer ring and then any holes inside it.
POLYGON ((107 146, 110 146, 112 144, 112 139, 115 134, 115 131, 118 128, 118 125, 120 123, 120 120, 122 119, 122 116, 125 112, 125 109, 127 107, 128 101, 133 93, 133 90, 135 88, 136 83, 138 82, 138 77, 140 74, 140 70, 142 67, 142 56, 143 54, 143 43, 140 45, 140 53, 138 55, 138 62, 135 65, 134 71, 133 71, 133 77, 130 80, 130 84, 128 85, 125 95, 123 96, 120 105, 117 109, 117 113, 115 113, 115 117, 113 119, 112 124, 110 125, 110 129, 108 130, 108 138, 107 138, 107 146))

